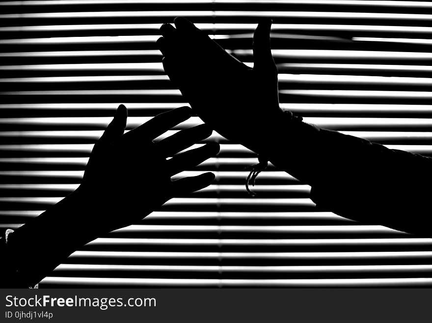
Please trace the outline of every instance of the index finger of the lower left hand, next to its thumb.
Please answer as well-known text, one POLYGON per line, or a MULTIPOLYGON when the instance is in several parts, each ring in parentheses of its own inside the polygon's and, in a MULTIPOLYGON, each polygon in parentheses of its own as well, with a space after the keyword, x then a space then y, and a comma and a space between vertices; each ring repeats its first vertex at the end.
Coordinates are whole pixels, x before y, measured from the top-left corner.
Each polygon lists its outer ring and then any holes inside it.
POLYGON ((192 109, 181 107, 161 113, 124 135, 127 140, 153 140, 192 116, 192 109))

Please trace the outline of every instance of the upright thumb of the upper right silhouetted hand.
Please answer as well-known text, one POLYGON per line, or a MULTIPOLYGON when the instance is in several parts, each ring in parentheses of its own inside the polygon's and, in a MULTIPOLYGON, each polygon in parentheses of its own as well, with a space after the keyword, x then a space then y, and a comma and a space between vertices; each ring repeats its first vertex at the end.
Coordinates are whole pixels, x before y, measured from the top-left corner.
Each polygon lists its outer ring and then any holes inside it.
POLYGON ((253 34, 253 68, 260 72, 274 72, 276 65, 270 48, 271 19, 258 24, 253 34))

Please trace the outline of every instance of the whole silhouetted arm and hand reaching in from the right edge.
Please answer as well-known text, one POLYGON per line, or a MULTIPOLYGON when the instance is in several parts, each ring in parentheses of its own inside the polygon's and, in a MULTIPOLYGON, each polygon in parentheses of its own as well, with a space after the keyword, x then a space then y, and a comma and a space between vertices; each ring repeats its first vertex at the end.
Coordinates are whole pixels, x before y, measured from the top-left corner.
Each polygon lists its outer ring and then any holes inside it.
POLYGON ((239 142, 310 184, 319 208, 432 236, 432 159, 320 129, 279 108, 271 20, 253 37, 254 67, 229 55, 184 18, 161 27, 163 66, 192 109, 239 142))

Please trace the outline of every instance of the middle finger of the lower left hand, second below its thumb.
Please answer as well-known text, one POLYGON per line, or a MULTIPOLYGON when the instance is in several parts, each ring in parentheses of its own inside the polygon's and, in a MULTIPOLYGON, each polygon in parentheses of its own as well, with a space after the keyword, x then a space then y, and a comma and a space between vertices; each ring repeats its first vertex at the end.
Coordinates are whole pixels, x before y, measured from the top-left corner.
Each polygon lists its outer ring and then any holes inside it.
POLYGON ((157 144, 157 149, 165 156, 172 156, 197 142, 208 138, 212 134, 212 129, 207 124, 200 124, 195 127, 181 130, 176 134, 161 140, 157 144))

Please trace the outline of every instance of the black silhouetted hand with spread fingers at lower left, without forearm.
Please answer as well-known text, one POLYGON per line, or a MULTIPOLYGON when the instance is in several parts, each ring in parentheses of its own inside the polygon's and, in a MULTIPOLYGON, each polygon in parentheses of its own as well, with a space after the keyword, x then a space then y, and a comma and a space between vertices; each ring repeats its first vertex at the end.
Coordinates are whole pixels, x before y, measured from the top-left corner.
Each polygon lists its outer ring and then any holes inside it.
POLYGON ((207 125, 181 130, 157 143, 152 141, 189 119, 191 113, 189 107, 178 108, 123 134, 127 110, 124 105, 119 106, 95 144, 77 190, 79 199, 91 208, 84 222, 86 231, 98 236, 130 225, 178 192, 194 192, 210 184, 215 178, 212 173, 174 181, 170 177, 216 155, 218 144, 207 144, 166 160, 209 137, 212 130, 207 125))

